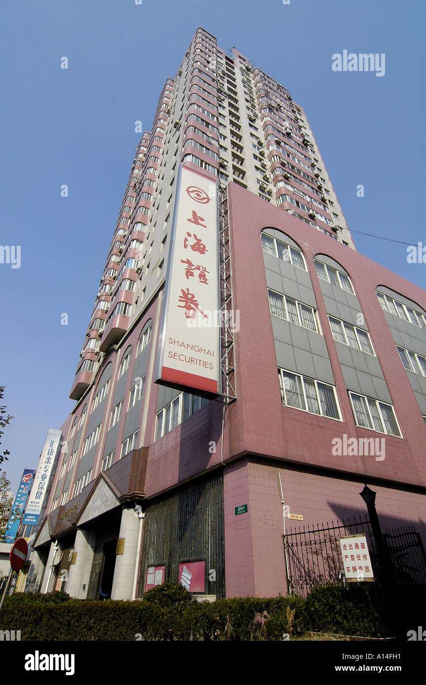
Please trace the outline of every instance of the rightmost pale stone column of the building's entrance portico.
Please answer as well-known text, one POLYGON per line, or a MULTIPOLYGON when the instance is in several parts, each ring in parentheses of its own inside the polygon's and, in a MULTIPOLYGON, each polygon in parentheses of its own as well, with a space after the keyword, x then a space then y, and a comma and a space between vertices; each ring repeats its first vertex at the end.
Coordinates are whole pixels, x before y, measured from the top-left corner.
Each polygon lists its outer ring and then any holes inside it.
POLYGON ((117 554, 111 599, 131 599, 138 554, 139 520, 134 508, 121 513, 120 538, 124 538, 123 554, 117 554))

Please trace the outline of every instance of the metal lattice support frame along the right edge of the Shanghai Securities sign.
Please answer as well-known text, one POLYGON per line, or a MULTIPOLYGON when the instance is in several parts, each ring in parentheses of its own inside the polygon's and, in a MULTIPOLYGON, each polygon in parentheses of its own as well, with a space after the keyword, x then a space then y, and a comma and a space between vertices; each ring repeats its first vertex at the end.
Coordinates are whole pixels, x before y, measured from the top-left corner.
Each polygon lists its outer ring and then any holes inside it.
POLYGON ((218 184, 219 210, 219 292, 221 334, 221 395, 225 404, 236 400, 234 368, 234 325, 232 308, 231 251, 229 249, 228 199, 225 186, 218 184))

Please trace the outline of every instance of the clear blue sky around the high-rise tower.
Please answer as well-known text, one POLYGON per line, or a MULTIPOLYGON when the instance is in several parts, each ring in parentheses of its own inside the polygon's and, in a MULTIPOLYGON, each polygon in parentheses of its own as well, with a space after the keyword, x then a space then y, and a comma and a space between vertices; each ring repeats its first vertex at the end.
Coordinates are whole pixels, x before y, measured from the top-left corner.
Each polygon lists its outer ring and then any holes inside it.
POLYGON ((421 0, 38 0, 3 3, 0 20, 0 245, 21 246, 19 269, 0 264, 0 384, 15 416, 1 449, 15 491, 47 429, 75 405, 68 394, 140 138, 134 122, 151 128, 198 26, 290 90, 358 250, 425 287, 426 264, 408 264, 406 245, 355 232, 426 244, 421 0), (385 53, 384 77, 332 71, 345 49, 385 53))

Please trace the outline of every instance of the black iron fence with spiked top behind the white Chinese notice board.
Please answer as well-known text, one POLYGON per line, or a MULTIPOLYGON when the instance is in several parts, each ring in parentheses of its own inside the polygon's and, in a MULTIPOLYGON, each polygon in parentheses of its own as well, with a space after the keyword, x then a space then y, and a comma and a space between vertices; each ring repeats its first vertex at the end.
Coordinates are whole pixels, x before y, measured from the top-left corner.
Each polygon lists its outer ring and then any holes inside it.
POLYGON ((383 538, 385 560, 371 521, 362 516, 340 524, 327 521, 316 529, 300 527, 284 535, 288 593, 309 595, 312 630, 340 625, 345 634, 349 630, 359 636, 389 638, 401 637, 407 626, 413 627, 426 596, 421 536, 412 525, 405 525, 386 530, 383 538), (346 580, 340 538, 355 534, 366 536, 374 582, 346 580))

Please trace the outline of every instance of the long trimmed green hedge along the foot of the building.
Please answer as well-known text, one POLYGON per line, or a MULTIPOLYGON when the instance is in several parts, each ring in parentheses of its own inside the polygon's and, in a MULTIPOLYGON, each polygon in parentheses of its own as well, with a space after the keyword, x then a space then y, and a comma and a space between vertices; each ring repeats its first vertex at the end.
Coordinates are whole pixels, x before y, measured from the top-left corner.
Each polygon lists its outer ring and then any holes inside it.
POLYGON ((359 607, 347 592, 321 586, 306 599, 280 595, 202 603, 172 583, 149 590, 142 601, 16 593, 5 600, 0 630, 21 630, 21 640, 286 640, 286 633, 308 630, 374 636, 378 618, 371 597, 364 593, 359 607))

